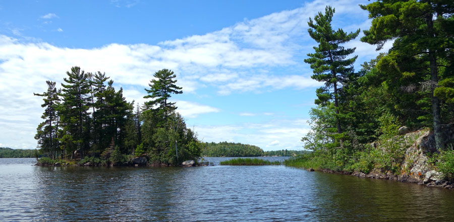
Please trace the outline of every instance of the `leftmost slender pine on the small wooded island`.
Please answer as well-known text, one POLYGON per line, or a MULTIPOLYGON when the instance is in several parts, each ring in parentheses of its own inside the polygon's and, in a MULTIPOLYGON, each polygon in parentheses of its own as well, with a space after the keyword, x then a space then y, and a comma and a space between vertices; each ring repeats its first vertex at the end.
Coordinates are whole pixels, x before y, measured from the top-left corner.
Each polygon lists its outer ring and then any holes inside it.
POLYGON ((56 139, 56 130, 58 124, 52 125, 58 119, 57 108, 60 102, 58 92, 55 88, 55 82, 46 81, 47 91, 42 94, 34 93, 35 96, 44 97, 44 103, 41 107, 45 107, 44 113, 41 118, 44 122, 40 123, 37 128, 35 139, 38 140, 38 145, 43 152, 49 153, 52 159, 55 159, 58 150, 58 143, 56 139))

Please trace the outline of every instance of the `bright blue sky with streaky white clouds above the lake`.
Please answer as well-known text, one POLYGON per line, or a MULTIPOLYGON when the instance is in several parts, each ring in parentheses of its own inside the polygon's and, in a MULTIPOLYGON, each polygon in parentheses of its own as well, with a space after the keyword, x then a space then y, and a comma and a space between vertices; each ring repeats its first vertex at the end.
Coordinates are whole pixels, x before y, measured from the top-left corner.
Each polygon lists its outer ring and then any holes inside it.
MULTIPOLYGON (((316 44, 307 21, 330 5, 334 29, 367 30, 358 5, 368 3, 0 1, 0 146, 34 149, 44 109, 33 93, 46 91, 46 80, 61 86, 80 66, 105 72, 140 104, 153 73, 171 69, 183 87, 171 100, 202 141, 302 150, 323 84, 304 63, 316 44)), ((356 70, 379 53, 359 38, 345 45, 356 47, 356 70)))

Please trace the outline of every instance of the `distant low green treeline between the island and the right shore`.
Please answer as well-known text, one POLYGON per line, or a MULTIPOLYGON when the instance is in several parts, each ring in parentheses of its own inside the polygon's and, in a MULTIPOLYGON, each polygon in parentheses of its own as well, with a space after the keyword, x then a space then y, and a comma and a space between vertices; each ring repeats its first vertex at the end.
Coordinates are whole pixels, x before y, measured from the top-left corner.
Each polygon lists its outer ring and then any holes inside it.
POLYGON ((281 156, 290 157, 298 154, 303 154, 304 151, 263 151, 260 147, 250 144, 242 144, 235 142, 205 142, 205 147, 202 149, 204 157, 262 157, 262 156, 281 156))

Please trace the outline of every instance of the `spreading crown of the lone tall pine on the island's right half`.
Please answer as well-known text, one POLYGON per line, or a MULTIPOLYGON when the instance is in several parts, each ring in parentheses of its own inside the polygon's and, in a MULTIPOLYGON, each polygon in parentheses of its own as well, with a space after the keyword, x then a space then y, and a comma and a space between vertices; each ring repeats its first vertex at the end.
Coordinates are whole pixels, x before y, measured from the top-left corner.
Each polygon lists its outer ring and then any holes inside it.
POLYGON ((175 103, 168 102, 167 100, 171 98, 171 94, 182 94, 181 87, 175 85, 177 80, 176 75, 172 70, 161 69, 154 73, 154 78, 150 81, 150 89, 145 89, 145 91, 150 94, 146 95, 143 98, 151 98, 151 101, 145 103, 146 109, 152 109, 152 107, 158 106, 158 111, 164 114, 164 117, 167 116, 167 113, 171 113, 176 110, 177 107, 175 103))

